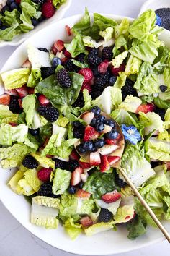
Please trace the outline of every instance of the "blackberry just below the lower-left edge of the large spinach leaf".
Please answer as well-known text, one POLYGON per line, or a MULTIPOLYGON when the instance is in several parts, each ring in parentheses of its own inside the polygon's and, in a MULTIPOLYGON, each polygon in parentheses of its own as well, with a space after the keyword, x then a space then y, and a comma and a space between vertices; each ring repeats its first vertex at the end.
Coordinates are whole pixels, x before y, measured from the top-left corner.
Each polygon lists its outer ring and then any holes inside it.
POLYGON ((57 108, 54 108, 53 106, 39 106, 37 111, 41 116, 44 116, 45 119, 51 122, 56 121, 59 116, 57 108))

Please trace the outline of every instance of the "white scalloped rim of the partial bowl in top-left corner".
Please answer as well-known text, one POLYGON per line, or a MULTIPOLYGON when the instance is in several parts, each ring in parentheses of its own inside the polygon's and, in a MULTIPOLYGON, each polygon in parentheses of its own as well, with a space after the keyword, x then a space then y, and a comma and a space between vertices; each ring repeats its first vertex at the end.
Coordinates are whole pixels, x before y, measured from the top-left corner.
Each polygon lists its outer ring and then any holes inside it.
POLYGON ((35 33, 37 33, 37 31, 39 31, 42 28, 50 25, 51 23, 55 22, 56 20, 61 20, 61 18, 66 13, 67 9, 71 6, 71 1, 72 0, 66 0, 66 3, 61 5, 61 7, 55 12, 53 17, 51 17, 50 19, 46 19, 46 20, 40 22, 40 24, 37 25, 30 32, 25 33, 25 34, 21 34, 21 35, 17 35, 16 37, 14 37, 14 39, 12 41, 9 41, 9 42, 8 41, 4 41, 4 40, 0 40, 0 47, 4 47, 4 46, 19 46, 19 44, 23 43, 24 40, 26 40, 30 36, 34 35, 35 33))

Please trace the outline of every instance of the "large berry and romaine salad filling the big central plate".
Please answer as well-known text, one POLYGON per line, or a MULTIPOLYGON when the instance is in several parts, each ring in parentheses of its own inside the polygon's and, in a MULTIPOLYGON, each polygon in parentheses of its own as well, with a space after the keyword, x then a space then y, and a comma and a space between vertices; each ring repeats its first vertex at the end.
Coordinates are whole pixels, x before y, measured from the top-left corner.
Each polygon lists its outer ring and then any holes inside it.
POLYGON ((66 25, 70 42, 29 45, 22 67, 1 73, 1 166, 16 168, 8 186, 30 201, 32 224, 61 222, 71 239, 120 223, 129 239, 145 234, 155 223, 118 161, 156 216, 170 220, 170 51, 162 30, 150 9, 132 24, 94 13, 92 25, 86 9, 66 25))

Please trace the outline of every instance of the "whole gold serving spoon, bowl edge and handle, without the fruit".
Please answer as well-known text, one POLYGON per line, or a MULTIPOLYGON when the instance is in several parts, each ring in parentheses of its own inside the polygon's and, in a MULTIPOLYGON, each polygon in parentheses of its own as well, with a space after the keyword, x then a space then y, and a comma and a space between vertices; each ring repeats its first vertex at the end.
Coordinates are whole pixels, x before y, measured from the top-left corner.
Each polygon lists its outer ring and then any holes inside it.
MULTIPOLYGON (((87 112, 89 112, 89 111, 87 111, 87 112)), ((101 114, 103 116, 106 116, 107 119, 111 119, 110 116, 105 114, 104 112, 102 112, 101 114)), ((81 116, 79 116, 79 117, 81 118, 83 115, 84 114, 81 114, 81 116)), ((115 120, 113 120, 113 121, 115 121, 115 120)), ((124 139, 124 135, 122 134, 122 129, 120 128, 119 124, 117 124, 116 121, 115 121, 115 124, 116 124, 117 132, 120 133, 120 140, 119 140, 119 144, 118 144, 118 145, 120 145, 120 148, 118 148, 117 150, 112 152, 110 155, 120 156, 120 161, 117 161, 117 163, 115 163, 111 167, 115 167, 115 168, 118 168, 120 170, 120 173, 124 177, 125 181, 129 184, 129 186, 133 189, 133 192, 135 193, 135 195, 138 197, 138 200, 140 200, 141 204, 144 206, 144 208, 146 208, 147 212, 149 213, 149 215, 151 216, 153 221, 156 223, 158 228, 161 230, 162 234, 164 234, 164 236, 166 237, 168 242, 170 242, 169 232, 165 229, 165 227, 163 226, 161 221, 158 220, 158 218, 156 217, 155 213, 153 213, 153 210, 149 207, 149 205, 147 204, 146 200, 144 200, 144 198, 140 195, 140 192, 138 192, 138 189, 135 187, 133 182, 131 182, 131 180, 129 179, 128 175, 125 173, 125 171, 121 167, 121 157, 122 157, 122 153, 123 153, 124 148, 125 148, 125 139, 124 139)), ((80 144, 80 142, 76 143, 75 148, 79 144, 80 144)), ((78 150, 76 150, 76 151, 77 151, 77 153, 79 153, 78 150)), ((80 154, 79 153, 79 155, 81 156, 81 158, 84 159, 84 161, 89 163, 89 153, 86 153, 86 154, 80 154)))

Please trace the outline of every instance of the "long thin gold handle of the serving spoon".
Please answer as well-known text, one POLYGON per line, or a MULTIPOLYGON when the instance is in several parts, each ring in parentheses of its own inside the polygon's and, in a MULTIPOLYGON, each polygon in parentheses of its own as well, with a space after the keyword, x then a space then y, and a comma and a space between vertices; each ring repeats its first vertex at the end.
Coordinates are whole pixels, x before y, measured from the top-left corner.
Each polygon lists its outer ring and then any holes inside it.
POLYGON ((156 217, 155 213, 153 213, 153 210, 151 210, 151 208, 149 207, 149 205, 147 204, 146 200, 143 199, 143 197, 140 195, 140 192, 138 192, 138 189, 135 187, 135 185, 133 184, 133 182, 130 181, 129 177, 127 174, 125 174, 125 171, 123 171, 122 168, 119 167, 119 170, 122 174, 122 176, 125 178, 126 182, 128 182, 128 184, 130 185, 130 187, 133 189, 133 192, 135 193, 135 195, 138 197, 138 200, 140 200, 141 204, 144 206, 144 208, 146 208, 147 212, 149 213, 149 215, 151 216, 151 218, 153 219, 153 221, 156 223, 156 225, 158 226, 158 228, 161 230, 161 232, 164 234, 164 236, 166 237, 166 239, 168 240, 168 242, 170 243, 170 235, 169 232, 165 229, 165 227, 162 225, 161 221, 158 220, 158 218, 156 217))

